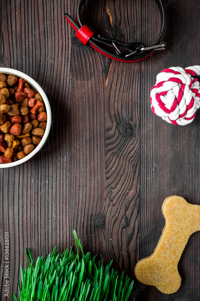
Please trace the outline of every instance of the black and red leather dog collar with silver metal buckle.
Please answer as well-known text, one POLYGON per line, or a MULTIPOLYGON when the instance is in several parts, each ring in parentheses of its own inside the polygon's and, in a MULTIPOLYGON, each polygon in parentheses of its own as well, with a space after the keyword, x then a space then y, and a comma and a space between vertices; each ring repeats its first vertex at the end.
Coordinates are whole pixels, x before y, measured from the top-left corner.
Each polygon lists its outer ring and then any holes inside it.
POLYGON ((145 45, 140 42, 127 43, 100 36, 98 33, 94 33, 87 25, 83 25, 81 8, 86 1, 87 0, 79 0, 77 6, 78 24, 68 14, 64 14, 64 17, 76 31, 76 37, 84 45, 87 44, 107 57, 121 62, 138 62, 148 57, 154 50, 165 49, 164 42, 159 44, 162 39, 166 24, 166 13, 162 0, 155 0, 161 15, 160 34, 156 44, 148 47, 145 47, 145 45))

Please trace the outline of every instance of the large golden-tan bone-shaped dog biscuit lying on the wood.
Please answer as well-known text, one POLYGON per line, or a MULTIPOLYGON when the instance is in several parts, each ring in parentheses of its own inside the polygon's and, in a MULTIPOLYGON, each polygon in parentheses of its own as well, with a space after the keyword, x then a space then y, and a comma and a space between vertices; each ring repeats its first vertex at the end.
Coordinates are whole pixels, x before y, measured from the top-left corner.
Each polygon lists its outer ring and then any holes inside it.
POLYGON ((181 285, 177 266, 184 247, 190 235, 200 230, 200 206, 174 195, 164 200, 162 211, 163 233, 154 253, 136 264, 135 275, 140 282, 172 294, 181 285))

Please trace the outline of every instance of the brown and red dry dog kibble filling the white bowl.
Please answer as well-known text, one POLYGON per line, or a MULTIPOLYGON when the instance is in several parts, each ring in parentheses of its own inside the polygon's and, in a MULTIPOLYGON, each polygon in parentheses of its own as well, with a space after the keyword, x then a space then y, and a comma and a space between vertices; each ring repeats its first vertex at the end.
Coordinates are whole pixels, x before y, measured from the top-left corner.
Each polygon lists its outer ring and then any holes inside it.
POLYGON ((46 110, 39 93, 24 79, 0 74, 0 163, 26 157, 46 129, 46 110))

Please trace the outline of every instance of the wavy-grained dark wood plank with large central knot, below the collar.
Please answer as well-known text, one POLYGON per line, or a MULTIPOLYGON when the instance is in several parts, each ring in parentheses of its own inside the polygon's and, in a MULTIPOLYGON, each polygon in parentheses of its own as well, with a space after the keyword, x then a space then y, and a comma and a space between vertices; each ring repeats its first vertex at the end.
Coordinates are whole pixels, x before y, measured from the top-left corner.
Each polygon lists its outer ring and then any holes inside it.
POLYGON ((139 222, 138 75, 139 65, 112 61, 105 107, 106 253, 129 275, 136 264, 139 222))

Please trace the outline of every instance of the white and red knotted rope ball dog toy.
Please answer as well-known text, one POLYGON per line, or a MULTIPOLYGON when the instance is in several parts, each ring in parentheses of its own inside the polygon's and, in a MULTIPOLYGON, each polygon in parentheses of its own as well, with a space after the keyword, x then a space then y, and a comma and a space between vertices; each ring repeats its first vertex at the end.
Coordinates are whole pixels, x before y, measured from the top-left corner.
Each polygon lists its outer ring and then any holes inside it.
POLYGON ((200 66, 171 67, 161 71, 151 89, 154 114, 181 126, 192 122, 200 107, 199 82, 192 77, 196 75, 200 75, 200 66))

